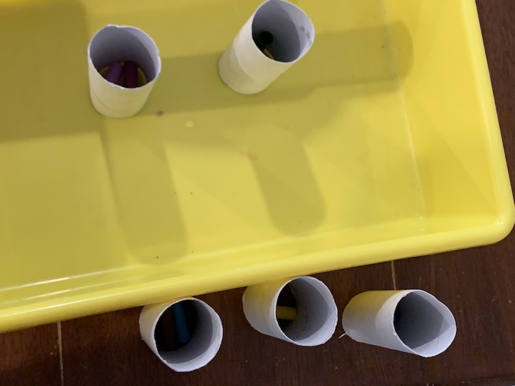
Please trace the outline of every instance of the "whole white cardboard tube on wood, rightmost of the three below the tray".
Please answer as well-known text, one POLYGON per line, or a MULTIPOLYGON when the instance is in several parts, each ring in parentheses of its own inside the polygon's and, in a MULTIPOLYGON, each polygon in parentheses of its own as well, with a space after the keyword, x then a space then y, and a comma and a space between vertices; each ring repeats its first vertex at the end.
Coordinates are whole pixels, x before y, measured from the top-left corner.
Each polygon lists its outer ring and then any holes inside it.
POLYGON ((356 295, 342 316, 352 339, 428 358, 453 343, 456 321, 445 304, 420 289, 356 295))

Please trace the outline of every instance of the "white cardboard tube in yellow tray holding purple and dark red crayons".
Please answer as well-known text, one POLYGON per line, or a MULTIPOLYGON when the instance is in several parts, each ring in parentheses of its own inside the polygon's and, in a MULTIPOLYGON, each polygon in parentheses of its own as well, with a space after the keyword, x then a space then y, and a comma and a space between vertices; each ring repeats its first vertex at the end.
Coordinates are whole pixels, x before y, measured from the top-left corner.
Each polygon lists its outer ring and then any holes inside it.
POLYGON ((141 29, 106 25, 89 42, 88 72, 89 93, 98 112, 113 118, 130 117, 143 108, 161 72, 159 50, 141 29), (133 75, 135 80, 125 75, 125 86, 109 82, 100 74, 107 67, 118 67, 121 62, 126 69, 134 67, 136 71, 139 67, 144 82, 137 84, 137 73, 133 75))

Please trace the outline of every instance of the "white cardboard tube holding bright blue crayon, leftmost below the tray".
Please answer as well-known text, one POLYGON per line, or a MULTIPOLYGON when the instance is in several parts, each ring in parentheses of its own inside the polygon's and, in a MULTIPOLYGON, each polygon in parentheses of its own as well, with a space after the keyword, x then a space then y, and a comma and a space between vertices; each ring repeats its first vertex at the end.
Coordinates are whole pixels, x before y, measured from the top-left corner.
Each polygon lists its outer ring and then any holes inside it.
POLYGON ((222 343, 222 321, 218 313, 202 300, 186 298, 144 306, 139 315, 141 337, 165 365, 176 372, 190 372, 209 363, 222 343), (177 304, 194 312, 194 327, 177 304), (173 311, 170 316, 168 313, 173 311), (180 313, 178 312, 180 311, 180 313), (158 330, 159 325, 159 330, 158 330), (160 337, 165 333, 168 337, 160 337), (170 336, 174 335, 176 336, 170 336), (172 341, 172 342, 170 342, 172 341), (174 343, 177 347, 171 347, 174 343))

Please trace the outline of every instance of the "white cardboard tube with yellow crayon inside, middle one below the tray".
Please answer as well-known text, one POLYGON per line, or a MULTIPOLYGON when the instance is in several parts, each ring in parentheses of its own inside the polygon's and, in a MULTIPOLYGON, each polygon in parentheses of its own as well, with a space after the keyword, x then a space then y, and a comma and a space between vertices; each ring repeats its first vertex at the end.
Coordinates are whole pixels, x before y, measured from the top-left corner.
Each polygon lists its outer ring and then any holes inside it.
POLYGON ((255 330, 297 346, 325 343, 334 334, 338 322, 338 309, 331 291, 310 276, 247 287, 243 294, 243 312, 255 330), (295 319, 282 327, 277 320, 277 300, 287 285, 295 298, 296 312, 295 319))

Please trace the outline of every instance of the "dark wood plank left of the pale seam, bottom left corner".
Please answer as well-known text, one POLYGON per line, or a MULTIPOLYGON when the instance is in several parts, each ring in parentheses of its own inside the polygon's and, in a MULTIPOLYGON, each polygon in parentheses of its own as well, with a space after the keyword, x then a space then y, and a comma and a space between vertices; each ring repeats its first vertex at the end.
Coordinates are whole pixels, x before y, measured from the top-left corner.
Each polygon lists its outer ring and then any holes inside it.
POLYGON ((0 334, 0 385, 60 385, 56 324, 0 334))

